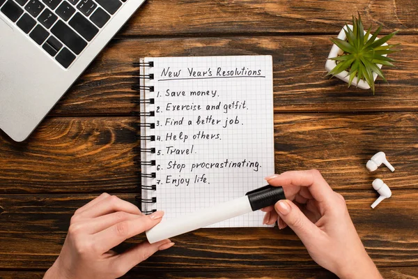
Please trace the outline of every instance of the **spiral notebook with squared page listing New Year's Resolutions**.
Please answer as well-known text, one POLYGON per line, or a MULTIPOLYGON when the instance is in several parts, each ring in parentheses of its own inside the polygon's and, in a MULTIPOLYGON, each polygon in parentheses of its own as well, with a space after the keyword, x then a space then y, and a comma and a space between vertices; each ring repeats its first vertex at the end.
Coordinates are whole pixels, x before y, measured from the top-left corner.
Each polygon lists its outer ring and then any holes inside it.
MULTIPOLYGON (((272 56, 139 63, 141 210, 175 218, 245 195, 274 174, 272 56)), ((211 227, 261 227, 260 211, 211 227)))

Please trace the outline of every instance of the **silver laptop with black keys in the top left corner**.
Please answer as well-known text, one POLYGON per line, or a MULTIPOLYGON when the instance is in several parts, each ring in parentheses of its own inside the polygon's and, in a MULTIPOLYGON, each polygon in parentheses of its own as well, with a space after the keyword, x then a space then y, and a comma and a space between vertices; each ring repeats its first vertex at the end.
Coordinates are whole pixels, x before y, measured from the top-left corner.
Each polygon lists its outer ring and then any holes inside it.
POLYGON ((145 0, 0 0, 0 129, 25 140, 145 0))

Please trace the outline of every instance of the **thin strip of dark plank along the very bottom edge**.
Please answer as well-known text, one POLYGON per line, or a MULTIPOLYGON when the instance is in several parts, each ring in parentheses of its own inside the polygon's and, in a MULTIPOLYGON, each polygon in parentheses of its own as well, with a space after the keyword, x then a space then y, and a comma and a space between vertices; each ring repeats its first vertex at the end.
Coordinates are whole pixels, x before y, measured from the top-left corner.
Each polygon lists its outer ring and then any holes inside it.
MULTIPOLYGON (((412 279, 418 278, 418 269, 413 267, 384 267, 380 268, 380 273, 383 278, 392 279, 412 279)), ((0 271, 1 279, 42 279, 44 271, 0 271)), ((133 269, 122 279, 137 279, 138 272, 133 269)), ((242 272, 240 270, 233 271, 149 271, 142 270, 140 278, 155 279, 155 278, 170 278, 170 279, 185 279, 185 278, 218 278, 218 279, 241 279, 241 278, 259 278, 259 279, 288 279, 288 278, 337 278, 329 271, 324 269, 274 269, 274 270, 253 270, 242 272)))

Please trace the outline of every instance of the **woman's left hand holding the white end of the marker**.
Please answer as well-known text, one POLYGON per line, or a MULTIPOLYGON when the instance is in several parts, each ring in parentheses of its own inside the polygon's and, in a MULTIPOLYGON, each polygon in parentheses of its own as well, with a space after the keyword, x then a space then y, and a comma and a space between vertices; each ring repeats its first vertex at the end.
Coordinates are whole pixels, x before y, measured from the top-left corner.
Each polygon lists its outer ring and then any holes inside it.
POLYGON ((111 250, 160 223, 163 215, 164 212, 157 211, 146 216, 134 204, 107 193, 96 197, 75 211, 61 253, 44 278, 114 279, 123 276, 158 250, 174 245, 167 239, 154 244, 144 241, 122 254, 111 250))

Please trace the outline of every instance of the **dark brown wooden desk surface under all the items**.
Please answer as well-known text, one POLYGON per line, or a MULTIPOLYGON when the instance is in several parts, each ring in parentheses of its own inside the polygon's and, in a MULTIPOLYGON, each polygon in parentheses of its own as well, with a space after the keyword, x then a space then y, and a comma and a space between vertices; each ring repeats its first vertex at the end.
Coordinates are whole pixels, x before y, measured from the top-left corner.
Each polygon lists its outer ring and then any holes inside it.
MULTIPOLYGON (((273 56, 276 172, 320 169, 383 276, 417 278, 417 34, 415 1, 149 0, 29 140, 0 134, 0 278, 42 278, 72 213, 99 193, 134 202, 132 62, 239 54, 273 56), (384 67, 390 84, 378 80, 375 96, 325 77, 329 38, 357 11, 366 27, 400 30, 397 67, 384 67), (366 171, 377 151, 396 172, 366 171), (375 178, 393 195, 372 210, 375 178)), ((334 278, 290 229, 201 229, 175 241, 125 278, 334 278)))

